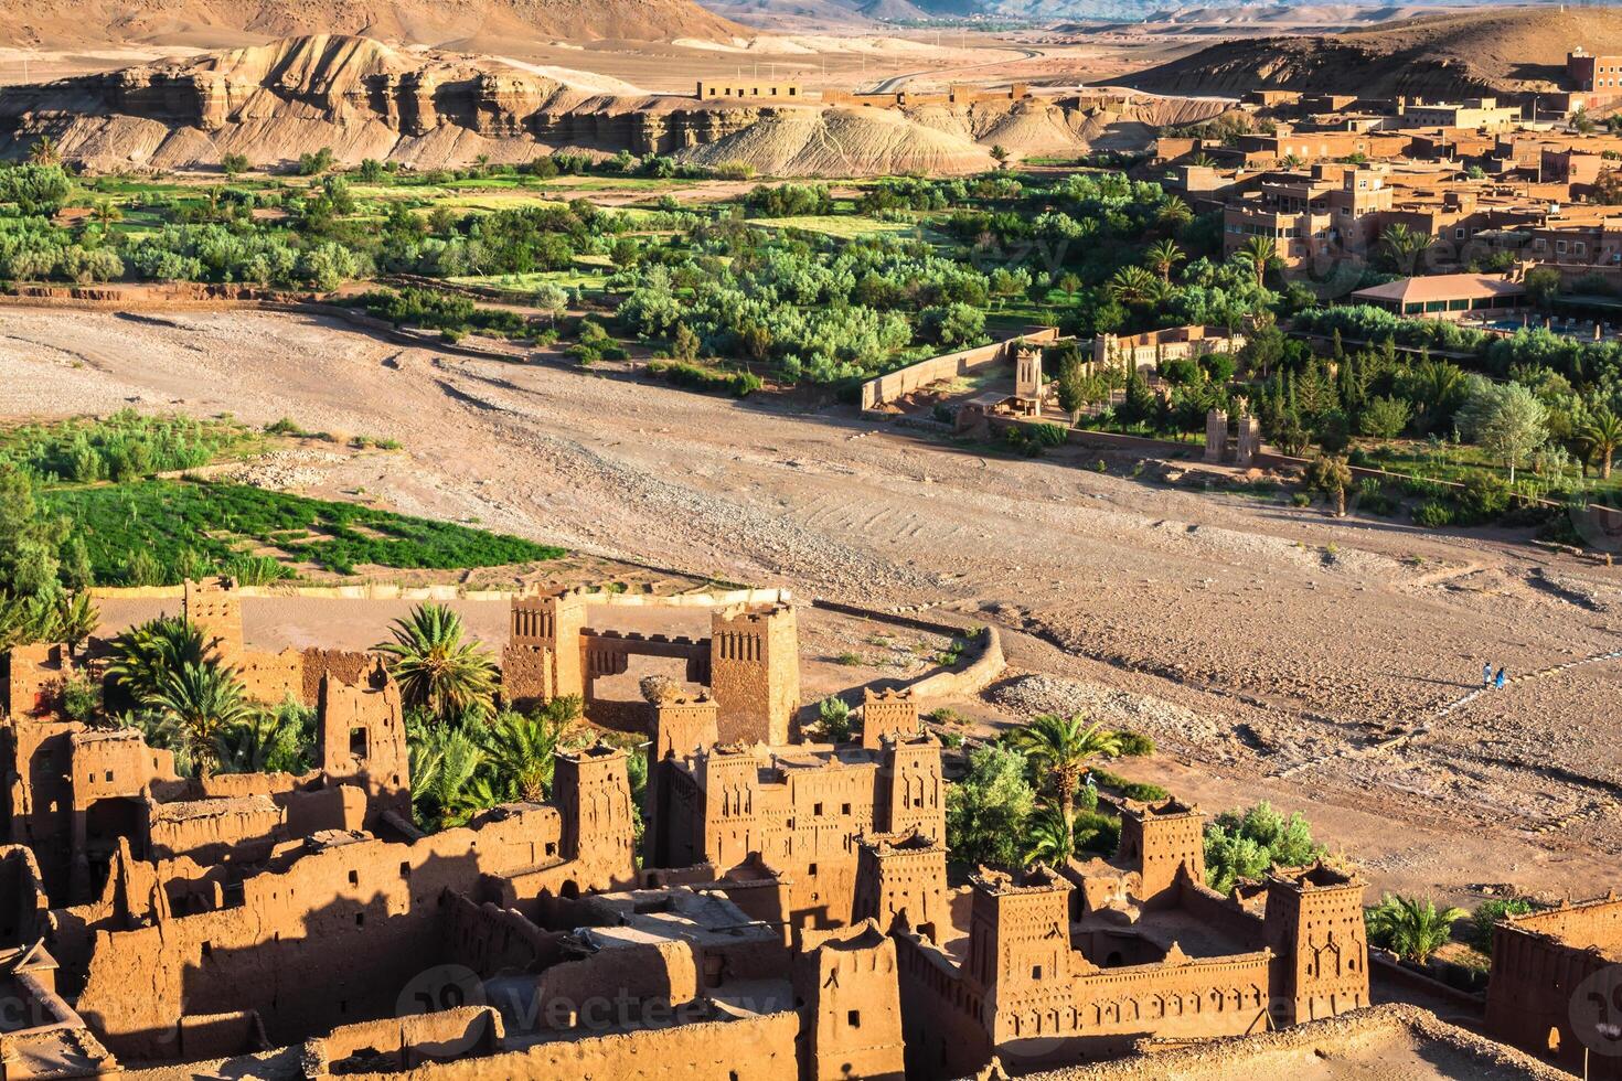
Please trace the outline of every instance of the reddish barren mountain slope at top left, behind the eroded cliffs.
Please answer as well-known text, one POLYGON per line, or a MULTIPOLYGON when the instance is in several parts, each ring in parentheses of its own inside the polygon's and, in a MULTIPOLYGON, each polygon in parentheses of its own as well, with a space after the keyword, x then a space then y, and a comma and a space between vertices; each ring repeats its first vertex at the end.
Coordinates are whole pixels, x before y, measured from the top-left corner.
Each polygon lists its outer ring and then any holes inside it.
POLYGON ((693 0, 6 0, 0 41, 18 45, 263 44, 365 34, 397 44, 467 39, 730 39, 743 28, 693 0))

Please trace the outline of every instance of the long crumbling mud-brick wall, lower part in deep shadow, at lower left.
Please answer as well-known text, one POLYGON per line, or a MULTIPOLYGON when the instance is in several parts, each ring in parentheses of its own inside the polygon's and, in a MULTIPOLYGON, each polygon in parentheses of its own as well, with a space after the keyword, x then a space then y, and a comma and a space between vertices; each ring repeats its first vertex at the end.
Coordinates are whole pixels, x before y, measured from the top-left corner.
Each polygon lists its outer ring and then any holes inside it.
MULTIPOLYGON (((415 844, 349 840, 250 877, 227 908, 92 929, 79 1008, 133 1057, 170 1050, 187 1010, 256 1010, 277 1044, 334 1018, 393 1013, 412 977, 441 956, 441 895, 545 862, 558 830, 551 807, 496 809, 415 844)), ((611 885, 584 872, 577 880, 611 885)))

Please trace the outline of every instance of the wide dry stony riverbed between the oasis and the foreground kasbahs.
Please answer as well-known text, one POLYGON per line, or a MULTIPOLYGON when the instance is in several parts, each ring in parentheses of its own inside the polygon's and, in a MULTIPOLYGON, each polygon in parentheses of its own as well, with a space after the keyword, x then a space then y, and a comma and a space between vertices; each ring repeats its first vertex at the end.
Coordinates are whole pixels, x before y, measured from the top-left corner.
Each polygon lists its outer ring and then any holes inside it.
MULTIPOLYGON (((1622 569, 1520 535, 1332 520, 1158 483, 1129 460, 1012 459, 852 407, 467 360, 307 316, 0 313, 0 417, 128 405, 404 444, 272 464, 305 491, 994 622, 1012 668, 957 703, 965 715, 1132 724, 1161 754, 1129 773, 1208 810, 1304 810, 1375 895, 1614 880, 1622 660, 1606 656, 1622 648, 1622 569), (1470 697, 1484 661, 1515 681, 1470 697)), ((313 634, 287 624, 261 621, 313 634)), ((806 624, 816 656, 873 652, 850 621, 806 624)), ((496 617, 480 626, 500 634, 496 617)), ((808 686, 866 674, 813 666, 808 686)))

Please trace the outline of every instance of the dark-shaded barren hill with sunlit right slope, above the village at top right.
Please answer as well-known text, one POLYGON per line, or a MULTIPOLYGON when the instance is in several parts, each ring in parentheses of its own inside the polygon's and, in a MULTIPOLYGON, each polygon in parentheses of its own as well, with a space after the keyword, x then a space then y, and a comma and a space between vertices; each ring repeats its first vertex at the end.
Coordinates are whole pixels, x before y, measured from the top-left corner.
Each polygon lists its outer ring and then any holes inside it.
POLYGON ((1251 37, 1150 68, 1129 86, 1179 94, 1255 88, 1460 97, 1557 89, 1565 53, 1622 41, 1617 8, 1492 8, 1333 36, 1251 37))

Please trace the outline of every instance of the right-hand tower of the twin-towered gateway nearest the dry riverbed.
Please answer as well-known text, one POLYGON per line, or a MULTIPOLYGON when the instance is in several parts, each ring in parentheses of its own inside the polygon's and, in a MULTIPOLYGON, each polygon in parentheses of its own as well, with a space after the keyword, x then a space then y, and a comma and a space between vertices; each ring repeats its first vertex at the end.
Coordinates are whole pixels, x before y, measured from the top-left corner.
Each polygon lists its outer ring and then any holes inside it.
POLYGON ((710 616, 710 692, 722 742, 788 744, 800 711, 795 609, 728 608, 710 616))

